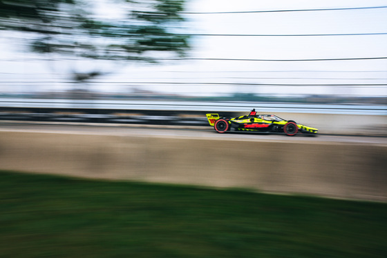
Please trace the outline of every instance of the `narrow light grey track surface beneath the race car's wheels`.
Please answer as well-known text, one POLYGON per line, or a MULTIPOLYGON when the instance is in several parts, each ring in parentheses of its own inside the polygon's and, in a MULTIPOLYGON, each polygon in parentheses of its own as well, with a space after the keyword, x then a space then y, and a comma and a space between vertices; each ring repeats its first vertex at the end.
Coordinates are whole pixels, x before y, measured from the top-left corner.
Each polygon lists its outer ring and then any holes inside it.
POLYGON ((188 126, 122 126, 95 124, 57 123, 14 123, 1 122, 0 132, 44 132, 75 135, 116 135, 137 137, 166 137, 176 139, 216 139, 222 141, 275 141, 275 142, 315 142, 315 143, 358 143, 366 145, 387 145, 387 137, 354 135, 296 135, 288 137, 280 134, 229 132, 220 134, 213 128, 188 126))

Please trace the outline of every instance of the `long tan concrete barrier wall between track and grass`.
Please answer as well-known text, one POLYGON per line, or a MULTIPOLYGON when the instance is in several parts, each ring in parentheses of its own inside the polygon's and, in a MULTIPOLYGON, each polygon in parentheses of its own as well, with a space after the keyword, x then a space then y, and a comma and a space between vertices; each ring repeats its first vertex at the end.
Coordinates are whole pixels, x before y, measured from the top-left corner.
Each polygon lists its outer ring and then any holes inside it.
POLYGON ((0 169, 387 201, 387 146, 1 132, 0 169))

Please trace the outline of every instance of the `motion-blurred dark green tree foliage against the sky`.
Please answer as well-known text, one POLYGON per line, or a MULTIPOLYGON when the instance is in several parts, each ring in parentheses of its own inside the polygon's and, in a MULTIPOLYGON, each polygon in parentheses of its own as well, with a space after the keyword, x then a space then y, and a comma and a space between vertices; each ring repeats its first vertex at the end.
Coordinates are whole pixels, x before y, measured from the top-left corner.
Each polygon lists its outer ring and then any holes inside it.
MULTIPOLYGON (((125 19, 97 17, 93 2, 0 0, 0 30, 23 32, 33 52, 65 59, 156 62, 189 49, 189 36, 177 33, 185 0, 115 0, 125 19)), ((104 74, 72 73, 78 83, 104 74)))

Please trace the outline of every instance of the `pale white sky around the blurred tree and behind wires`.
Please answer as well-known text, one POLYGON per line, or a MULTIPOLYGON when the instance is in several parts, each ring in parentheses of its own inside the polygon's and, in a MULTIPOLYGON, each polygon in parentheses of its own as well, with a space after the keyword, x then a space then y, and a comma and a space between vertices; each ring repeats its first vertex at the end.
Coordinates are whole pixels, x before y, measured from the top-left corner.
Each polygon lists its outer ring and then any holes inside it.
MULTIPOLYGON (((119 8, 97 0, 97 15, 120 17, 119 8)), ((193 37, 188 57, 163 65, 95 64, 79 61, 85 71, 97 66, 111 72, 88 83, 100 92, 135 88, 180 95, 361 95, 387 96, 387 59, 272 61, 387 57, 387 34, 352 36, 246 36, 289 34, 387 33, 387 8, 303 12, 252 12, 387 6, 379 0, 256 1, 188 0, 185 31, 193 37), (241 12, 241 13, 219 13, 241 12), (225 36, 234 34, 239 36, 225 36), (212 35, 212 36, 210 36, 212 35), (223 36, 214 36, 223 35, 223 36), (243 36, 240 36, 243 35, 243 36), (211 60, 205 60, 211 59, 211 60), (223 59, 223 60, 214 60, 223 59), (224 59, 263 59, 231 61, 224 59), (209 84, 205 84, 209 83, 209 84), (269 84, 269 85, 268 85, 269 84), (272 84, 272 85, 270 85, 272 84), (323 86, 319 86, 319 85, 323 86), (344 86, 337 86, 344 84, 344 86), (381 84, 373 85, 369 84, 381 84)), ((66 90, 62 83, 74 63, 34 59, 13 39, 0 38, 0 92, 66 90), (58 79, 59 78, 59 79, 58 79), (62 79, 61 79, 62 78, 62 79), (13 83, 6 83, 13 81, 13 83), (16 83, 17 81, 21 83, 16 83), (22 83, 29 81, 29 83, 22 83), (38 83, 40 81, 41 83, 38 83)))

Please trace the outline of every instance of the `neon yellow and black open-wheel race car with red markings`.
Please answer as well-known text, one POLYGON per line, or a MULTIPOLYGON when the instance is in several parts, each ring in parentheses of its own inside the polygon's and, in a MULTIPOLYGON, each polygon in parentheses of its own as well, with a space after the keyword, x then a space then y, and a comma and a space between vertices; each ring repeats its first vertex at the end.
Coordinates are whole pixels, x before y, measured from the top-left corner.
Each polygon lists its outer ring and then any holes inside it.
POLYGON ((253 109, 249 115, 242 117, 219 117, 218 114, 206 114, 210 126, 214 126, 216 132, 249 131, 285 133, 294 136, 299 132, 308 135, 316 135, 317 128, 296 123, 293 120, 285 120, 276 115, 257 115, 253 109))

